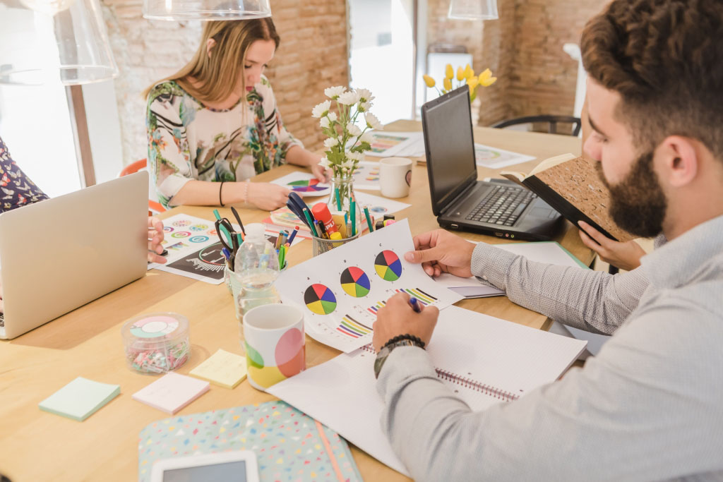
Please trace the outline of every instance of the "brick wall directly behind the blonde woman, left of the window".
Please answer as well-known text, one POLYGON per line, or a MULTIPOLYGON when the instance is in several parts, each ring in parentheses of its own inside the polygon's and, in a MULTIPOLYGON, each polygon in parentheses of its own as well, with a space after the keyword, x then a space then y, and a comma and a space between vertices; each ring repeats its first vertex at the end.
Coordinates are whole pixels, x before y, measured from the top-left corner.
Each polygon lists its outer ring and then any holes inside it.
MULTIPOLYGON (((200 22, 150 21, 141 0, 102 0, 120 75, 115 88, 125 164, 145 158, 145 99, 141 92, 184 66, 196 50, 200 22)), ((310 149, 322 135, 311 109, 330 85, 348 85, 346 1, 273 0, 281 46, 266 71, 289 132, 310 149)))

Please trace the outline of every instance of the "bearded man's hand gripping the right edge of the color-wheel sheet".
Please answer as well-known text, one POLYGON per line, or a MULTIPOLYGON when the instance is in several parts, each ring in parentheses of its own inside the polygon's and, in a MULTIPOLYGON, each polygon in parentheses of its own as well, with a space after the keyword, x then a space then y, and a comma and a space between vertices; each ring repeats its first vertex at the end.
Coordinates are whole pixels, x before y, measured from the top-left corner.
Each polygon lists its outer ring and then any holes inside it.
POLYGON ((404 255, 404 259, 411 263, 422 263, 424 272, 429 276, 448 272, 459 277, 470 277, 474 246, 443 229, 435 229, 414 236, 416 251, 409 251, 404 255))

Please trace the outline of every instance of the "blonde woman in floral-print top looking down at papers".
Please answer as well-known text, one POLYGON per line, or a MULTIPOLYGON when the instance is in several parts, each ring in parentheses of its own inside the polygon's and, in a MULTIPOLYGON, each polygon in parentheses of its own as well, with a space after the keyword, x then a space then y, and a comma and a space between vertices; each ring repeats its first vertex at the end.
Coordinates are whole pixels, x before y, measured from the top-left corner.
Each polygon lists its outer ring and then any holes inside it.
POLYGON ((250 177, 288 162, 325 178, 319 156, 284 128, 263 76, 279 41, 270 18, 206 22, 189 64, 144 92, 148 165, 163 205, 274 210, 289 190, 250 177))

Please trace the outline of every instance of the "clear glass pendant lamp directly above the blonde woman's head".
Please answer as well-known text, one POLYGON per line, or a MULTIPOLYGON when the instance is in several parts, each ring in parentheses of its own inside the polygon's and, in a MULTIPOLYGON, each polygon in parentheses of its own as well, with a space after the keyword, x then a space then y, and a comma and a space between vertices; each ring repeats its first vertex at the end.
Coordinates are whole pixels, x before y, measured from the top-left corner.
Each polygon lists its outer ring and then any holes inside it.
POLYGON ((143 0, 153 20, 247 20, 271 17, 269 0, 143 0))

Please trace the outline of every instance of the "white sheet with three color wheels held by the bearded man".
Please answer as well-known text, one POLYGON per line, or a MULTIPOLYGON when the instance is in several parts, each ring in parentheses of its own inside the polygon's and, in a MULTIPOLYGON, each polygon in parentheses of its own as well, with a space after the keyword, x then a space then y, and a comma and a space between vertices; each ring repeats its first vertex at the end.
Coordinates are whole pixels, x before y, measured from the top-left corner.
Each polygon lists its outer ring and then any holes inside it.
POLYGON ((401 220, 281 273, 276 289, 304 312, 307 335, 349 353, 372 341, 377 311, 395 293, 439 309, 462 299, 404 260, 413 249, 401 220))

